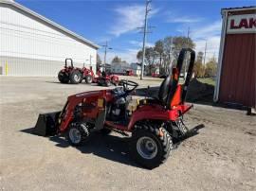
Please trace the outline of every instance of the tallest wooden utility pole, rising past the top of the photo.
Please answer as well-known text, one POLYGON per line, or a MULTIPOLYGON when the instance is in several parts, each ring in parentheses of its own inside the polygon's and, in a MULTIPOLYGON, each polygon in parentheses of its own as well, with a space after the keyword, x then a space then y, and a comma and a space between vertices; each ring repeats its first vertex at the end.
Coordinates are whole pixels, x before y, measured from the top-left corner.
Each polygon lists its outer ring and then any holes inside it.
POLYGON ((145 44, 148 32, 148 13, 151 9, 149 9, 149 5, 151 0, 146 0, 146 10, 145 10, 145 20, 144 20, 144 28, 143 28, 143 47, 142 47, 142 63, 141 63, 141 74, 140 79, 143 79, 144 73, 144 61, 145 61, 145 44))

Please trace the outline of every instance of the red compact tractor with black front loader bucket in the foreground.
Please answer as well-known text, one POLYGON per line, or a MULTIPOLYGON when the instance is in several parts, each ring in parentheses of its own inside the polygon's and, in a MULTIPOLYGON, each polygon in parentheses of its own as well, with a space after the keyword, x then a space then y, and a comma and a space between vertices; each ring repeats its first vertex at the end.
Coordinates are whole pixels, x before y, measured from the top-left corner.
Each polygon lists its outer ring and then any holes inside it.
POLYGON ((80 146, 95 131, 131 132, 131 157, 139 165, 154 168, 171 155, 172 140, 190 131, 182 116, 192 108, 185 103, 185 97, 194 57, 192 49, 181 50, 176 68, 160 85, 158 97, 133 99, 131 95, 137 82, 121 80, 122 87, 113 90, 69 96, 62 112, 39 115, 34 133, 43 136, 64 134, 71 145, 80 146), (191 53, 191 61, 185 83, 180 85, 186 52, 191 53))

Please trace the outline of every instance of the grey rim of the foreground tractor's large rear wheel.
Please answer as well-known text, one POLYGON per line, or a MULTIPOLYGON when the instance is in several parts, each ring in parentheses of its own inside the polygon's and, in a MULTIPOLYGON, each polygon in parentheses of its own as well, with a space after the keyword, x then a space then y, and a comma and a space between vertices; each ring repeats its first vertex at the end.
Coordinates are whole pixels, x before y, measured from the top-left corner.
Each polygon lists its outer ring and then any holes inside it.
POLYGON ((140 137, 137 140, 137 152, 144 159, 153 159, 157 154, 155 141, 150 137, 140 137))

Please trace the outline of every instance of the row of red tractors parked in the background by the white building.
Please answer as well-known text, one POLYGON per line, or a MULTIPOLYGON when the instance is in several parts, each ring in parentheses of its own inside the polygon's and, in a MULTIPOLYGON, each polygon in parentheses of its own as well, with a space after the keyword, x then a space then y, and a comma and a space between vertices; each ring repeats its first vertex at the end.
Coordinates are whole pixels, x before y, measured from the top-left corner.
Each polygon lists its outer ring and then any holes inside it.
POLYGON ((82 80, 87 84, 97 83, 100 86, 119 85, 119 77, 112 74, 106 74, 99 69, 95 75, 92 67, 74 67, 72 59, 65 59, 64 68, 58 74, 61 83, 78 84, 82 80))

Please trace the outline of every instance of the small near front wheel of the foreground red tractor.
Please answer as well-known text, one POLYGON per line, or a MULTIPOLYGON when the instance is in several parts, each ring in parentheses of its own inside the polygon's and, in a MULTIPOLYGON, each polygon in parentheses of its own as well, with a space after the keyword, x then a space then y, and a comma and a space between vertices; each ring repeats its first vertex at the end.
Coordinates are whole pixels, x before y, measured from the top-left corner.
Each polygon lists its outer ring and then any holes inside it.
POLYGON ((70 145, 82 146, 89 136, 89 130, 85 123, 74 123, 67 131, 66 137, 70 145))

